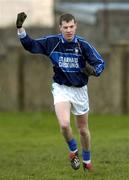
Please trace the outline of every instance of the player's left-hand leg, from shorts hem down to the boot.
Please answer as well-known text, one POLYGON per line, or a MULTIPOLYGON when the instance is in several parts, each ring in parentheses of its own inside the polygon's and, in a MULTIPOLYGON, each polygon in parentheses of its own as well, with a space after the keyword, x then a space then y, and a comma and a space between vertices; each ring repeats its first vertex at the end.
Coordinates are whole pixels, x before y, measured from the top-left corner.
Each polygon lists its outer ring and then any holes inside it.
POLYGON ((70 126, 70 109, 71 104, 69 102, 60 102, 55 104, 55 112, 59 121, 59 125, 70 149, 69 159, 71 166, 74 170, 77 170, 80 167, 80 161, 78 158, 77 143, 73 138, 72 129, 70 126))

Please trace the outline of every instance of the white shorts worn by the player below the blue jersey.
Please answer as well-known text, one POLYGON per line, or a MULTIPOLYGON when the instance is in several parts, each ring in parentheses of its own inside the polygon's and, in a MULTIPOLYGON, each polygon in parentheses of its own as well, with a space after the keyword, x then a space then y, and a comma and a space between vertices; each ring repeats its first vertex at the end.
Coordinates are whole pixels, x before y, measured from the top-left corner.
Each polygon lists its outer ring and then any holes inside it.
POLYGON ((52 94, 54 104, 64 101, 70 102, 71 112, 74 115, 82 115, 89 111, 87 85, 78 88, 59 85, 54 82, 52 84, 52 94))

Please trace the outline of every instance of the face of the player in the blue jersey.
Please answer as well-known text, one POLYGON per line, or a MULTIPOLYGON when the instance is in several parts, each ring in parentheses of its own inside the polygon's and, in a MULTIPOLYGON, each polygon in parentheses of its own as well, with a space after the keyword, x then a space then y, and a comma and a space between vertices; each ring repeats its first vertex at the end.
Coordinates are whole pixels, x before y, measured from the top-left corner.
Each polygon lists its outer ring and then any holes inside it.
POLYGON ((77 23, 75 23, 74 20, 71 20, 69 22, 62 21, 62 24, 59 26, 59 28, 64 38, 67 41, 71 41, 74 38, 77 23))

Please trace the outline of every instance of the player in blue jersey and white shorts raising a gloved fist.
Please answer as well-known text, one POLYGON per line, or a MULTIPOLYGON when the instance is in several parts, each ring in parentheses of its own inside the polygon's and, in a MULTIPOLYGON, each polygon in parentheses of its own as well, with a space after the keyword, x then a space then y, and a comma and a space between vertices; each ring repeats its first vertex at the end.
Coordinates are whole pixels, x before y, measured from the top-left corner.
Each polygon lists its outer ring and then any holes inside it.
POLYGON ((22 27, 24 12, 17 15, 16 26, 23 47, 34 54, 48 56, 53 64, 52 94, 61 132, 69 147, 73 169, 79 169, 77 142, 70 126, 70 112, 75 115, 82 147, 84 170, 91 170, 91 139, 88 128, 88 77, 99 76, 104 69, 100 54, 83 38, 75 35, 77 22, 72 14, 63 14, 59 20, 61 34, 30 38, 22 27))

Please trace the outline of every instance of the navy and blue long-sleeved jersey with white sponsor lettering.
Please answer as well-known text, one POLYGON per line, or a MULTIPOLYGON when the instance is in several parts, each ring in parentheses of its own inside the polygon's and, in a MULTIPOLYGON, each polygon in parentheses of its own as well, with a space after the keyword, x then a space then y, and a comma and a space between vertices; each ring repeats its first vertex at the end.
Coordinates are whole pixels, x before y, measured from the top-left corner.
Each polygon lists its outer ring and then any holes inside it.
POLYGON ((58 84, 82 87, 88 83, 88 76, 82 71, 86 61, 94 67, 99 76, 104 69, 101 55, 83 38, 76 36, 70 42, 62 34, 32 39, 27 34, 20 37, 23 47, 34 54, 44 54, 53 64, 53 80, 58 84))

